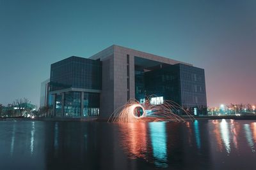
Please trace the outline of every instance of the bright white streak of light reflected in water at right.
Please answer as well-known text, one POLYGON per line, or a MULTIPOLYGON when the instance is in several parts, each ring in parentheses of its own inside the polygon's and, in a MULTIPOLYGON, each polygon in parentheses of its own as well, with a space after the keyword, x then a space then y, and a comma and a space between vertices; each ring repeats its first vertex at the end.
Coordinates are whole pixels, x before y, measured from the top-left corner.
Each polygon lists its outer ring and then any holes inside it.
POLYGON ((230 134, 228 131, 228 123, 226 122, 225 119, 221 120, 220 123, 220 130, 221 130, 221 138, 223 140, 223 143, 225 145, 227 153, 230 153, 230 134))

